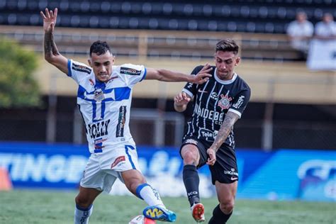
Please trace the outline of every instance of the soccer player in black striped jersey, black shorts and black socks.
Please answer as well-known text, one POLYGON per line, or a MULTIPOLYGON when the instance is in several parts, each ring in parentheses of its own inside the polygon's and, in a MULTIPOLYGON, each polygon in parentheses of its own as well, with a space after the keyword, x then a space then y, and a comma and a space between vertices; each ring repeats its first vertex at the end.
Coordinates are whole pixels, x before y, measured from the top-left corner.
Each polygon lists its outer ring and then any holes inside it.
MULTIPOLYGON (((204 206, 198 193, 197 169, 208 164, 219 204, 209 224, 226 223, 233 213, 237 192, 237 161, 233 125, 250 100, 250 87, 236 73, 240 62, 239 46, 234 40, 220 40, 215 46, 212 77, 204 84, 188 83, 174 97, 174 108, 182 112, 194 97, 194 113, 187 123, 181 145, 184 161, 183 181, 196 222, 205 221, 204 206)), ((203 66, 198 66, 196 74, 203 66)))

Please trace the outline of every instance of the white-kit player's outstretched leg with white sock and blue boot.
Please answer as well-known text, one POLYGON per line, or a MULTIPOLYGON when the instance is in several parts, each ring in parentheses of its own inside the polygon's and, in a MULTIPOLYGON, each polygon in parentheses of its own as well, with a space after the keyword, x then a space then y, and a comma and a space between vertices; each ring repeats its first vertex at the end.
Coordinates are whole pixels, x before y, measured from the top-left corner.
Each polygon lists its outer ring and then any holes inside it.
POLYGON ((130 169, 121 172, 121 175, 128 190, 148 204, 148 207, 143 211, 147 218, 168 222, 176 220, 176 214, 164 206, 159 192, 146 183, 145 177, 138 170, 130 169))

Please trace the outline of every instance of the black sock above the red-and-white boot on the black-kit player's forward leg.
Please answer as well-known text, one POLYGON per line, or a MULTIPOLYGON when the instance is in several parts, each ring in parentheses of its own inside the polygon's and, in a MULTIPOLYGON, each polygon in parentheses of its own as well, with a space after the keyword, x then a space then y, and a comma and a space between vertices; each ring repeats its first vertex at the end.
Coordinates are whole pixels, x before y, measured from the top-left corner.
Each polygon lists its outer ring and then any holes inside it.
POLYGON ((185 165, 183 167, 183 182, 186 187, 186 195, 188 196, 188 200, 190 206, 194 203, 199 202, 199 193, 198 193, 198 185, 199 185, 199 177, 196 166, 194 165, 185 165))

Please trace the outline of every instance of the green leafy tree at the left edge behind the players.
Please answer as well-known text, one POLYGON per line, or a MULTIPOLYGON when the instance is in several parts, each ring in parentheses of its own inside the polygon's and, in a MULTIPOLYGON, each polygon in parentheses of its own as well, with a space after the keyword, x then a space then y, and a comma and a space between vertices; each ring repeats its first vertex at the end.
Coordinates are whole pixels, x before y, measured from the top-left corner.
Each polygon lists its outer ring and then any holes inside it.
POLYGON ((35 52, 0 37, 0 108, 40 105, 40 89, 33 77, 37 67, 35 52))

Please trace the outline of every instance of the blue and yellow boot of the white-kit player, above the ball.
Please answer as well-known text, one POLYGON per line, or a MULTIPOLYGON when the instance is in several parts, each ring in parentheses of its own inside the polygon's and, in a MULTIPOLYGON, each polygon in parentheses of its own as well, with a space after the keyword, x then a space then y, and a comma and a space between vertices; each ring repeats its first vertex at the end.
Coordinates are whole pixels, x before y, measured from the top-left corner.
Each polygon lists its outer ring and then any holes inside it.
POLYGON ((177 220, 177 215, 173 211, 169 211, 167 208, 161 206, 148 206, 143 210, 145 217, 159 220, 164 222, 174 222, 177 220))

